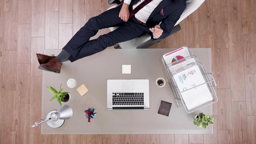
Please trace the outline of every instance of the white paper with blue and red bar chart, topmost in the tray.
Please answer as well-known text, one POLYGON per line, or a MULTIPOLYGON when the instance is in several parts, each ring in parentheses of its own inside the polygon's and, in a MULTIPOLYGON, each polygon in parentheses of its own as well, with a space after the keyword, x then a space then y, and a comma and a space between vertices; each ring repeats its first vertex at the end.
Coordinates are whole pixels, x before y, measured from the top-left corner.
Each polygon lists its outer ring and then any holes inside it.
POLYGON ((193 109, 213 100, 198 65, 189 67, 173 76, 187 109, 193 109), (201 86, 198 86, 202 84, 201 86), (195 87, 197 86, 197 87, 195 87), (195 87, 195 88, 193 88, 195 87), (192 88, 188 90, 189 88, 192 88), (188 91, 186 91, 188 90, 188 91))

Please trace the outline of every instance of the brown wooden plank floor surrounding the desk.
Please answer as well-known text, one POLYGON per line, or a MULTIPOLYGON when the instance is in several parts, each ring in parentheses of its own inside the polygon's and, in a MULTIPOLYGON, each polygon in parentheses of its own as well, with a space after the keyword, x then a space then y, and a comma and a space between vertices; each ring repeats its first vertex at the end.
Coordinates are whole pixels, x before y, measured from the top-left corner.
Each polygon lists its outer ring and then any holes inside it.
POLYGON ((256 144, 255 0, 206 0, 181 31, 151 46, 212 48, 213 135, 41 135, 30 128, 41 118, 35 53, 61 49, 108 7, 107 0, 0 0, 0 144, 256 144))

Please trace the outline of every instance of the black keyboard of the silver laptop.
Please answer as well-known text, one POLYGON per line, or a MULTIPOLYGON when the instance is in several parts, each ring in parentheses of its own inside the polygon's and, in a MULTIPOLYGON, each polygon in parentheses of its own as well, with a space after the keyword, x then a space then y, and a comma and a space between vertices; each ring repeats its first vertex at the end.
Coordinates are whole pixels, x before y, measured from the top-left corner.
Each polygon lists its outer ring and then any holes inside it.
POLYGON ((112 93, 112 105, 144 105, 144 93, 112 93))

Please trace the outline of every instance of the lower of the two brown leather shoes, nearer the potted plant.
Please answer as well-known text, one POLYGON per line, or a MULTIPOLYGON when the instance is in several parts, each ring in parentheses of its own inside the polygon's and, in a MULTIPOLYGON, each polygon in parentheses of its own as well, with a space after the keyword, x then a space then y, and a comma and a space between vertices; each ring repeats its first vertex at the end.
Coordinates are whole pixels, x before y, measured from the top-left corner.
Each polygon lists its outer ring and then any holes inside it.
POLYGON ((61 73, 61 66, 62 63, 60 63, 57 58, 52 58, 48 61, 48 63, 43 63, 38 68, 50 72, 61 73))

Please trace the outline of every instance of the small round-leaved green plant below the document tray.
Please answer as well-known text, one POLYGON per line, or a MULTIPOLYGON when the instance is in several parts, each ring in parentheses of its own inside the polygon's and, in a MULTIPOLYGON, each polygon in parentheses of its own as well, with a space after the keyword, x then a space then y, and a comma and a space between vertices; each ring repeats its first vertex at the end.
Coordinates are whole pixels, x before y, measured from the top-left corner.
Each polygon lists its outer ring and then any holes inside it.
POLYGON ((207 125, 213 125, 213 116, 211 114, 204 114, 200 112, 198 118, 194 118, 194 125, 197 125, 199 128, 206 128, 207 125))

